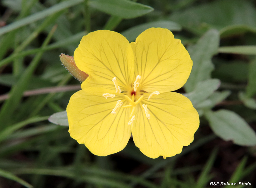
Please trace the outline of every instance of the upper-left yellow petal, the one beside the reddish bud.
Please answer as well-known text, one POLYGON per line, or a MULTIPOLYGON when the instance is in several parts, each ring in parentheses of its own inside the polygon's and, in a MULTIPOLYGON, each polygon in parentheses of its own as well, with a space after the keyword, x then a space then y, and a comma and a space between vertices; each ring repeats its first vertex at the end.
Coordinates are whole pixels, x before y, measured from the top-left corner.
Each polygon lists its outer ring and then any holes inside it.
POLYGON ((77 67, 89 74, 81 87, 115 89, 131 85, 134 78, 134 57, 129 41, 114 31, 98 30, 84 36, 74 53, 77 67))

